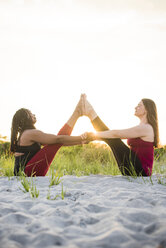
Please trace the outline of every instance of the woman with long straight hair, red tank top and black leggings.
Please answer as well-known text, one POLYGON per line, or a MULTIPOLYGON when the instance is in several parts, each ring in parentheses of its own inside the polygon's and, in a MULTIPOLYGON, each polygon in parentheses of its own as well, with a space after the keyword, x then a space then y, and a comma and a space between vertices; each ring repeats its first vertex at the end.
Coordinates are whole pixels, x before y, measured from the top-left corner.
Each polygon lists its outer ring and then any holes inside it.
POLYGON ((142 99, 135 107, 139 125, 122 130, 109 130, 97 116, 84 94, 83 114, 88 116, 97 133, 85 133, 88 140, 105 141, 115 156, 122 175, 152 175, 154 147, 159 144, 158 117, 155 103, 142 99), (121 139, 127 139, 127 145, 121 139))

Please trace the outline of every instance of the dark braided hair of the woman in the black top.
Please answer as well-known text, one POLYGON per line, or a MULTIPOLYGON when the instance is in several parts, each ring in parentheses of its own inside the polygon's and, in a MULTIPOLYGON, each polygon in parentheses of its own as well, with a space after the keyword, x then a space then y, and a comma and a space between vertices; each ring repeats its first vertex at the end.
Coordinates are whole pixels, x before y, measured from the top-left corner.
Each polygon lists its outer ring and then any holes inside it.
POLYGON ((19 109, 13 116, 11 127, 11 145, 10 151, 15 152, 18 138, 27 129, 35 129, 30 111, 25 108, 19 109))

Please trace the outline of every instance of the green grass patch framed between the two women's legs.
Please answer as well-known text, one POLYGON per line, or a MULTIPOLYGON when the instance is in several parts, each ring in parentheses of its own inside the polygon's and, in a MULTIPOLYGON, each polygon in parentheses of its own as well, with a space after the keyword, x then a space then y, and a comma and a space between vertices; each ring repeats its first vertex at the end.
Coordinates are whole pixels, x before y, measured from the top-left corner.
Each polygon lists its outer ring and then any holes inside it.
POLYGON ((51 168, 63 175, 120 174, 108 146, 98 143, 62 147, 55 156, 51 168))

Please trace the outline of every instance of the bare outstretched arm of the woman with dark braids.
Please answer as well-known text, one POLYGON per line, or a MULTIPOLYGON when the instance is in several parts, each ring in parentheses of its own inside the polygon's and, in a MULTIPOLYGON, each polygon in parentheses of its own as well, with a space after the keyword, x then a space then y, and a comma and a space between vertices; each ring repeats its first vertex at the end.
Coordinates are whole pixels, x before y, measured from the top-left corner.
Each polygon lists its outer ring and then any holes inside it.
POLYGON ((24 140, 27 142, 38 142, 40 144, 63 144, 63 145, 78 145, 84 143, 81 136, 54 135, 47 134, 42 131, 33 129, 27 130, 24 133, 24 140))

